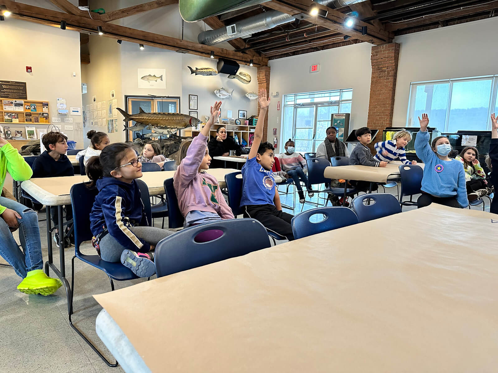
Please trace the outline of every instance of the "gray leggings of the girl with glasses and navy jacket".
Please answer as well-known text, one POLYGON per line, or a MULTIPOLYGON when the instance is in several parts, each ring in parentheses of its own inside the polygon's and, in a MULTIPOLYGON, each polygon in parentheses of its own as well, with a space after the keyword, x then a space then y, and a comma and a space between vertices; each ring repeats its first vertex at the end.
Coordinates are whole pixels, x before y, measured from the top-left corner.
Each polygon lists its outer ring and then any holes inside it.
MULTIPOLYGON (((156 227, 131 227, 129 230, 138 238, 145 240, 151 245, 157 245, 164 237, 168 237, 175 233, 166 229, 156 227)), ((125 249, 116 239, 110 234, 106 234, 100 241, 100 255, 106 262, 119 262, 121 253, 125 249)))

